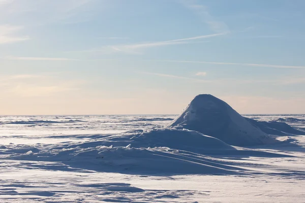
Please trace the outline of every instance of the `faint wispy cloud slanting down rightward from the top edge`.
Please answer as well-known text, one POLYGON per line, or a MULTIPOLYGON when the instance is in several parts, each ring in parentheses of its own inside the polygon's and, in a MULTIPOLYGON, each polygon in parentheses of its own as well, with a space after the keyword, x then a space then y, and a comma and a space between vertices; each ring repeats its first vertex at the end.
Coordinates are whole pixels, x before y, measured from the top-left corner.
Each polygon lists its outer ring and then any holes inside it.
POLYGON ((215 32, 230 32, 229 27, 223 21, 216 20, 210 15, 206 6, 196 0, 182 0, 182 5, 193 11, 209 28, 215 32))

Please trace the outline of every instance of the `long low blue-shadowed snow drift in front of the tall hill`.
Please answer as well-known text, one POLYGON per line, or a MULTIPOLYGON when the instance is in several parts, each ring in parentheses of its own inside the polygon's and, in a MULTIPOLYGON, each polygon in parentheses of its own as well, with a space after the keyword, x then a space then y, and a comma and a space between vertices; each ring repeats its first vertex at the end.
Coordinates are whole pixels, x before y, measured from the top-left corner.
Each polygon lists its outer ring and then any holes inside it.
MULTIPOLYGON (((222 157, 287 157, 284 154, 234 148, 191 130, 133 130, 53 145, 12 145, 0 151, 0 160, 35 161, 48 170, 126 174, 245 175, 241 163, 222 157), (2 154, 1 154, 2 153, 2 154), (214 156, 214 157, 213 157, 214 156)), ((257 172, 255 172, 257 173, 257 172)))

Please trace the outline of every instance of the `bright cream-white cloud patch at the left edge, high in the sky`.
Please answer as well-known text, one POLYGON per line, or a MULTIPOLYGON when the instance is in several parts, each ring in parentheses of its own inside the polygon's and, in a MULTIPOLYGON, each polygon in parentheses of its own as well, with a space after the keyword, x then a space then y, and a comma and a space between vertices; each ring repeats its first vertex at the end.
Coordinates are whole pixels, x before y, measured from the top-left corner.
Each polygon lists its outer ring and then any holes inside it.
POLYGON ((0 25, 0 44, 8 44, 29 40, 28 36, 16 36, 16 32, 23 29, 22 26, 0 25))

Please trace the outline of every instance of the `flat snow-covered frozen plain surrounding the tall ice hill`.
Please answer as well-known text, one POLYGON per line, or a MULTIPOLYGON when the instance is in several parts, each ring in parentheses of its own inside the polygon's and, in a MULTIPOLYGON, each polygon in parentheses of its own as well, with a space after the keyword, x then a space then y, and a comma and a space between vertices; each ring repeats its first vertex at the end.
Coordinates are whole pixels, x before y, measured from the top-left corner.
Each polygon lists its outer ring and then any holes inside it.
MULTIPOLYGON (((305 131, 305 115, 246 117, 305 131)), ((246 148, 156 130, 174 118, 0 117, 0 202, 305 201, 302 133, 246 148)))

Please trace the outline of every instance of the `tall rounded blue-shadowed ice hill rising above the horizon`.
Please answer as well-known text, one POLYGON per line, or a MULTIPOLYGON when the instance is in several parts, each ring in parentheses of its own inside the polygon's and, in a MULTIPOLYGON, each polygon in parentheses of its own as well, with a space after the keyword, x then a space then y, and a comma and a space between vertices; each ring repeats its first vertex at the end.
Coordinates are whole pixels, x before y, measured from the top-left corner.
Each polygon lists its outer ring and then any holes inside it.
POLYGON ((210 94, 197 95, 167 128, 195 130, 234 146, 278 142, 251 124, 223 100, 210 94))

